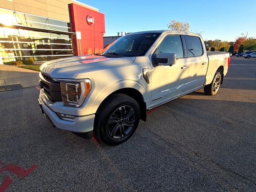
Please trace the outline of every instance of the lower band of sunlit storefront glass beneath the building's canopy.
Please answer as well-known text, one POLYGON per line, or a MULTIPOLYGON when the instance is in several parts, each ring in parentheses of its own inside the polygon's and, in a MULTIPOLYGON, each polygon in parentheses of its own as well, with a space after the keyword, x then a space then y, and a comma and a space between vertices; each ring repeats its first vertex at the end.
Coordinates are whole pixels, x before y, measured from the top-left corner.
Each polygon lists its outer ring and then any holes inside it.
POLYGON ((4 63, 73 56, 71 35, 0 27, 0 56, 4 63))

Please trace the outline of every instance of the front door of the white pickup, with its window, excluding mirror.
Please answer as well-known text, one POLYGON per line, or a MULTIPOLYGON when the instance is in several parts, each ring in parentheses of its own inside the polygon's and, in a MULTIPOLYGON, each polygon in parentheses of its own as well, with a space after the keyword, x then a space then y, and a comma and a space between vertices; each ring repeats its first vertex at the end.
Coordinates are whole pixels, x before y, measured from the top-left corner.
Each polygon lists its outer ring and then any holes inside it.
POLYGON ((172 100, 188 91, 188 67, 184 58, 184 48, 180 35, 167 35, 156 48, 157 53, 176 53, 176 63, 172 66, 159 65, 152 70, 151 107, 172 100))

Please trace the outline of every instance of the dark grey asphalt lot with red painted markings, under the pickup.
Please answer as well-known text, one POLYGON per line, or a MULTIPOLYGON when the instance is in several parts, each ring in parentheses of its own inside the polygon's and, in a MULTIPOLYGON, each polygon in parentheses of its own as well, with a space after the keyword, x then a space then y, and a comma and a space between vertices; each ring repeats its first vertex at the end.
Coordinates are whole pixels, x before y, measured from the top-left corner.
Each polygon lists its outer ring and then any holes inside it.
POLYGON ((232 57, 216 96, 161 106, 115 147, 52 128, 38 94, 0 92, 0 191, 256 191, 256 59, 232 57))

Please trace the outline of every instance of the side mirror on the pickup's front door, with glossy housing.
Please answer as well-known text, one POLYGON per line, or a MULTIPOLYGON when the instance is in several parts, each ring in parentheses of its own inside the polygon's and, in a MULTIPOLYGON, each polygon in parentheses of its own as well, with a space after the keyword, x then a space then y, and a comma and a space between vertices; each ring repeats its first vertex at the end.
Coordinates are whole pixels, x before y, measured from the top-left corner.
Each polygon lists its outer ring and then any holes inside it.
POLYGON ((176 53, 158 53, 153 56, 154 66, 173 65, 176 63, 176 53))

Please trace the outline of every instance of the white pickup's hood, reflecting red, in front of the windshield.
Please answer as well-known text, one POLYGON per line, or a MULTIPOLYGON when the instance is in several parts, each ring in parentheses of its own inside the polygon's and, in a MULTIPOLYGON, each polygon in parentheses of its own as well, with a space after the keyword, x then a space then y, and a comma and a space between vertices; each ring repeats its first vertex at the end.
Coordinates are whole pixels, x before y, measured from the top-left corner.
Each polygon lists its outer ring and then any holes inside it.
POLYGON ((40 71, 52 78, 74 79, 78 74, 107 68, 130 65, 135 57, 108 58, 100 55, 84 55, 45 62, 40 71))

